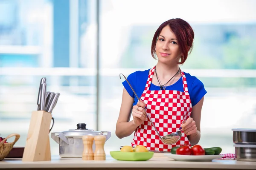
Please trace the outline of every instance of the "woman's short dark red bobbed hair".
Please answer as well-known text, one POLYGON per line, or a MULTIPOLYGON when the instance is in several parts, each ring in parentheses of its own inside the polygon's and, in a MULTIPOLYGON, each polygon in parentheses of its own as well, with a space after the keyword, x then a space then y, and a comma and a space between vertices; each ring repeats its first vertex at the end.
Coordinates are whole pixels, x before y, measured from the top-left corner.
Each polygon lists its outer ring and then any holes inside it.
POLYGON ((191 53, 192 48, 193 48, 193 40, 194 40, 194 31, 192 27, 187 23, 186 21, 180 19, 180 18, 175 18, 168 20, 164 23, 162 23, 158 28, 157 31, 154 34, 152 44, 151 44, 151 55, 154 59, 156 58, 156 44, 157 44, 157 39, 162 31, 162 29, 166 26, 169 26, 172 30, 172 32, 175 34, 177 38, 177 42, 180 48, 180 51, 182 52, 183 56, 181 56, 180 62, 178 64, 183 64, 187 57, 188 54, 191 53))

